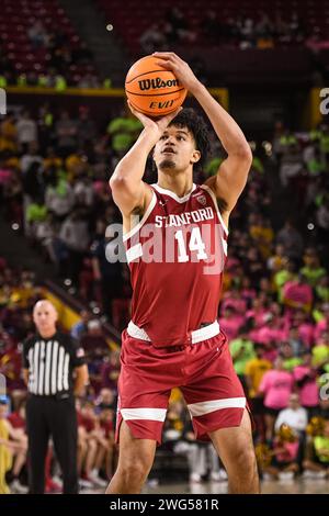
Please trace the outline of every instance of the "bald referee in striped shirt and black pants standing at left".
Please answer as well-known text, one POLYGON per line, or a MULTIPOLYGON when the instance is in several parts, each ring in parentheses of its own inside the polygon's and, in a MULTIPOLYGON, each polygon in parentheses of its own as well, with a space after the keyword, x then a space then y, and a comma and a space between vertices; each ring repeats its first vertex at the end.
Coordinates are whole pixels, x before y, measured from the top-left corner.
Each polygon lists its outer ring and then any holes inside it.
POLYGON ((77 340, 57 332, 57 312, 49 301, 35 304, 33 319, 37 332, 23 345, 30 493, 44 493, 50 436, 63 472, 63 492, 78 493, 75 395, 88 382, 84 352, 77 340))

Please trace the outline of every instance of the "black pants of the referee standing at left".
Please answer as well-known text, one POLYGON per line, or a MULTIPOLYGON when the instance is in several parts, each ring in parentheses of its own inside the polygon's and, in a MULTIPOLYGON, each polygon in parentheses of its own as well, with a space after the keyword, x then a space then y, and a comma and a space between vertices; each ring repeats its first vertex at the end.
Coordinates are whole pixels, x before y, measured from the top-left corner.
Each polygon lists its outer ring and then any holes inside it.
POLYGON ((31 395, 26 403, 30 493, 45 492, 45 459, 52 436, 63 473, 63 492, 78 493, 77 413, 73 396, 31 395))

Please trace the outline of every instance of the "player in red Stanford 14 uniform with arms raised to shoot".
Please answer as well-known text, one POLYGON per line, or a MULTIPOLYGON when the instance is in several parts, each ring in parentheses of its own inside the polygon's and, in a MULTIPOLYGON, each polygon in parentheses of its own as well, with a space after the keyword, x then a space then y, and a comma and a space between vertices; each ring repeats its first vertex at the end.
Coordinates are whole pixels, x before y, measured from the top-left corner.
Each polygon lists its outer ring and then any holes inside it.
POLYGON ((215 177, 193 184, 193 168, 208 147, 203 120, 182 110, 154 121, 131 106, 144 130, 110 180, 123 215, 134 295, 118 379, 120 458, 106 493, 140 492, 174 386, 196 437, 213 441, 229 492, 258 493, 246 397, 217 323, 229 214, 252 155, 240 127, 189 65, 173 53, 154 55, 198 101, 228 157, 215 177), (158 182, 149 186, 143 176, 151 150, 158 182))

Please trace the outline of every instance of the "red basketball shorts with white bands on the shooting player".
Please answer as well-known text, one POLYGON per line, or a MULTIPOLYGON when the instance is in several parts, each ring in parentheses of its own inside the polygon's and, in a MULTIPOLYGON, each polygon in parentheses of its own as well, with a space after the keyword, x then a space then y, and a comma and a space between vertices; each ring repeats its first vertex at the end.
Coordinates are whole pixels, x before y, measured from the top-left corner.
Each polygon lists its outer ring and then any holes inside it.
POLYGON ((171 389, 180 388, 197 439, 239 426, 246 397, 225 335, 189 346, 155 348, 123 332, 116 441, 122 420, 138 439, 161 442, 171 389))

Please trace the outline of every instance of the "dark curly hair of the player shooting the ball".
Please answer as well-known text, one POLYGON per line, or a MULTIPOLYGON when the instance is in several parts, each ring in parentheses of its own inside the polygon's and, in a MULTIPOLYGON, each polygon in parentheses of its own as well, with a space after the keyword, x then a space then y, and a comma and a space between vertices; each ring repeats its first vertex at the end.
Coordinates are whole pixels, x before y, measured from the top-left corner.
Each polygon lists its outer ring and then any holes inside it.
POLYGON ((192 108, 184 108, 169 125, 188 127, 188 130, 193 134, 196 149, 201 153, 201 158, 194 165, 194 170, 202 170, 211 152, 208 127, 204 119, 192 108))

